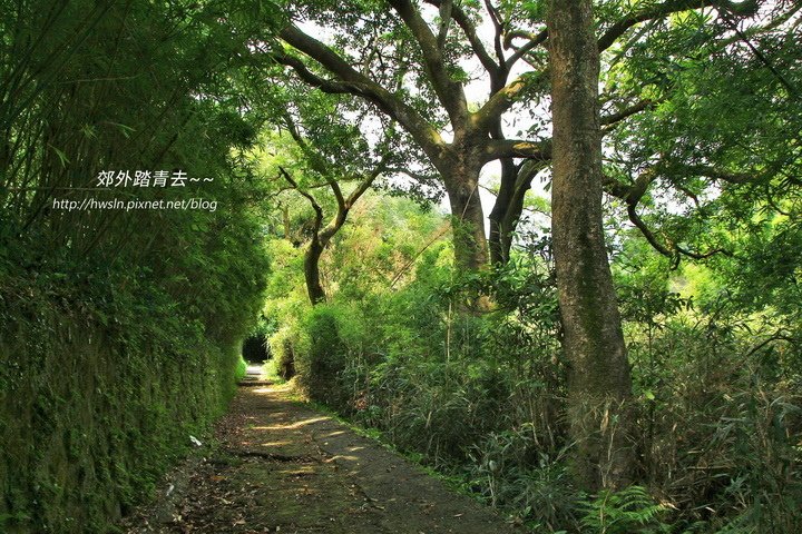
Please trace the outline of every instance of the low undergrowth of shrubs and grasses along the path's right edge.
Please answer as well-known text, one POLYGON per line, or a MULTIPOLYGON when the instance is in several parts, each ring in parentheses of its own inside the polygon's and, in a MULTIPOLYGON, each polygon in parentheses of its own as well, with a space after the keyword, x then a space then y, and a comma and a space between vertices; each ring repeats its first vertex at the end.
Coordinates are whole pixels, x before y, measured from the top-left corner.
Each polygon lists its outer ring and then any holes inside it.
POLYGON ((642 483, 583 494, 568 461, 548 270, 511 266, 500 283, 454 285, 436 264, 424 255, 415 281, 399 291, 295 303, 271 338, 278 368, 293 367, 309 397, 535 532, 802 528, 795 346, 751 348, 747 330, 722 328, 677 298, 639 315, 625 308, 642 483), (454 313, 460 291, 476 288, 493 295, 497 309, 454 313))

